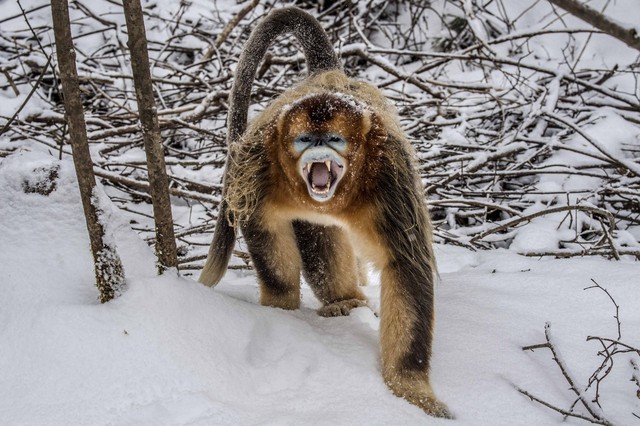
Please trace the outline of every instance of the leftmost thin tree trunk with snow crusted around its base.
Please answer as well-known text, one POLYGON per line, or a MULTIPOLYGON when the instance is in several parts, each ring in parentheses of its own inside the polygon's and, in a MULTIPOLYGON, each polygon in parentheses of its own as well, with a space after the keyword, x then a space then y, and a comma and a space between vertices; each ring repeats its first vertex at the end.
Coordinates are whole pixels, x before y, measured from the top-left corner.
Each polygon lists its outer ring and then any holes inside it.
POLYGON ((101 209, 98 197, 94 196, 96 181, 87 141, 67 0, 51 0, 51 13, 73 163, 78 176, 80 197, 89 231, 96 286, 100 292, 100 302, 104 303, 113 299, 124 289, 124 270, 115 247, 105 241, 105 230, 98 217, 101 209))

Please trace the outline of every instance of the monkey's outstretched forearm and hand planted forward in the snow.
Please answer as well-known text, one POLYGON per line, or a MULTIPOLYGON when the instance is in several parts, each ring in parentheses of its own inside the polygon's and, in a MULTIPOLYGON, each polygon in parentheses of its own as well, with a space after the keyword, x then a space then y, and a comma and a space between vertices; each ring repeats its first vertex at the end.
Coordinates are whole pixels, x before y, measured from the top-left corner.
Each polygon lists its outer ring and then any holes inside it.
POLYGON ((433 340, 432 268, 416 259, 392 260, 382 270, 382 373, 397 396, 432 416, 452 418, 429 381, 433 340))

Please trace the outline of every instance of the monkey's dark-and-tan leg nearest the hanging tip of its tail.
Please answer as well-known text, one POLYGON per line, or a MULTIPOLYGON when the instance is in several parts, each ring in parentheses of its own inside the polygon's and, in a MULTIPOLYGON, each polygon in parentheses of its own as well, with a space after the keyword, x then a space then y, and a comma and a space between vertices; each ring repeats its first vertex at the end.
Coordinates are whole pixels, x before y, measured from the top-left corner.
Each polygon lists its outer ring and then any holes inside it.
POLYGON ((300 307, 300 268, 291 222, 265 226, 249 220, 242 229, 260 284, 260 303, 281 309, 300 307))

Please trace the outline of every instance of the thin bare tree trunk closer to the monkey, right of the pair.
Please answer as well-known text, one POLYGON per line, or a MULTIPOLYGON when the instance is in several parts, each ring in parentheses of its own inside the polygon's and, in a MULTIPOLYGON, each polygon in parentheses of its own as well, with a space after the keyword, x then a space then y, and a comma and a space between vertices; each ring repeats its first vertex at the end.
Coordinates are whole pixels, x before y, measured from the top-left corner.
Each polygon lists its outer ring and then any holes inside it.
POLYGON ((124 0, 123 6, 129 33, 127 45, 131 54, 133 81, 136 87, 144 149, 147 154, 149 186, 156 225, 158 270, 162 273, 166 268, 178 267, 171 201, 169 199, 169 179, 165 168, 158 115, 153 97, 142 7, 140 0, 124 0))

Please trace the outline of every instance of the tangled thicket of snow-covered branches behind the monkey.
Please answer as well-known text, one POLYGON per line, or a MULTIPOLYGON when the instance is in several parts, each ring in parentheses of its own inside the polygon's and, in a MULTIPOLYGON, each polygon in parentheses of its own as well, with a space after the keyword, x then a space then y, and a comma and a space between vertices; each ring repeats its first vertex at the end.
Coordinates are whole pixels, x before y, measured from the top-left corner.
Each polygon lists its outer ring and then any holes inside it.
MULTIPOLYGON (((606 29, 567 26, 548 2, 533 0, 521 8, 477 0, 314 7, 308 10, 345 70, 397 106, 437 242, 530 256, 640 258, 637 58, 602 57, 606 29)), ((179 263, 189 268, 202 265, 217 215, 235 64, 269 9, 247 1, 212 10, 195 0, 143 10, 179 263)), ((96 174, 152 242, 122 7, 72 2, 71 18, 96 174)), ((2 138, 13 144, 2 145, 0 157, 25 140, 53 155, 69 152, 59 76, 47 65, 55 61, 50 34, 41 7, 3 18, 0 98, 16 107, 0 106, 2 138)), ((255 110, 299 81, 305 67, 295 39, 279 40, 258 71, 255 110)))

